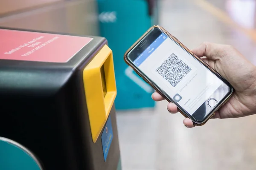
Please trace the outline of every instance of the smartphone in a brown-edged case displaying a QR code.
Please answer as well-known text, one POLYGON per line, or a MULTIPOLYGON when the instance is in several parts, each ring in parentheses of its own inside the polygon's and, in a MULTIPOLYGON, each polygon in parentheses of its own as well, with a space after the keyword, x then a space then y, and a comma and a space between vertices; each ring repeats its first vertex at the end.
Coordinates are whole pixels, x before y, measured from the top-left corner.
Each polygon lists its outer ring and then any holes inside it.
POLYGON ((204 125, 233 87, 177 38, 151 27, 126 51, 125 62, 194 125, 204 125))

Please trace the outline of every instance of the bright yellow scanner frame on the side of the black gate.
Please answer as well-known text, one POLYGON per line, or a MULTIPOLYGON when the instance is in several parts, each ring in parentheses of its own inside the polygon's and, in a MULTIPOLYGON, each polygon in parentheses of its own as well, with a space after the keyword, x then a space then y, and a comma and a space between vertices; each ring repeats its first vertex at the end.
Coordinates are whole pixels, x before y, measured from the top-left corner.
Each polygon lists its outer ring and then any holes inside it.
POLYGON ((84 68, 83 80, 90 128, 95 143, 116 99, 113 54, 108 45, 104 45, 84 68), (102 67, 104 72, 101 71, 102 67))

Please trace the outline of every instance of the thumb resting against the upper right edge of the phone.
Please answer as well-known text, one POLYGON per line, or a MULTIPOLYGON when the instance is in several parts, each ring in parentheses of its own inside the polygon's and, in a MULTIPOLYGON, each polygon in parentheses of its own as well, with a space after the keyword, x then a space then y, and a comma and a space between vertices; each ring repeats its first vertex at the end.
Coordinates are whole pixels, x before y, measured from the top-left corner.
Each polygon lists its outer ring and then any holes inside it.
POLYGON ((207 57, 208 59, 217 60, 221 57, 221 53, 224 51, 224 45, 215 44, 211 42, 204 42, 192 52, 199 58, 207 57))

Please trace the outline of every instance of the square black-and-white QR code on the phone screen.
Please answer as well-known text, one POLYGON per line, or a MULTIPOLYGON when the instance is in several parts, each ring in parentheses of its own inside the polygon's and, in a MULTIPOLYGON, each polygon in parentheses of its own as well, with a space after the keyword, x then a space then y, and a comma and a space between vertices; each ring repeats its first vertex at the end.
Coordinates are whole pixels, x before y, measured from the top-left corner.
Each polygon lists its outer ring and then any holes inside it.
POLYGON ((172 53, 156 72, 175 87, 191 70, 192 68, 172 53))

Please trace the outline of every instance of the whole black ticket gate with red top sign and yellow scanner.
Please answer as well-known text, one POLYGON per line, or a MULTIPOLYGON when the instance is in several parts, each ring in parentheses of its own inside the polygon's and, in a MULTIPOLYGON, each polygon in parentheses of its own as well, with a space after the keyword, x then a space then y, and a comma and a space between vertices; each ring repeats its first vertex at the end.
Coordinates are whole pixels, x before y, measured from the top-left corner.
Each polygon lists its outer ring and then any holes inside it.
POLYGON ((0 37, 0 169, 29 158, 43 170, 121 169, 107 40, 7 28, 0 37))

